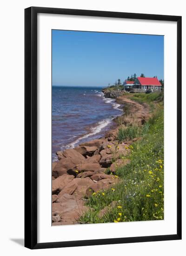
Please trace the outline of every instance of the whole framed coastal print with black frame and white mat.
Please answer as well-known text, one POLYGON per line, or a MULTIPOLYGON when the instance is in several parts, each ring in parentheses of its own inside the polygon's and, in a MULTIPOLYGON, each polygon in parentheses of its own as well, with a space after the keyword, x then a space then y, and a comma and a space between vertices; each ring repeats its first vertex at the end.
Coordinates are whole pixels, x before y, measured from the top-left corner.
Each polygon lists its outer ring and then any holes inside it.
POLYGON ((25 246, 181 239, 181 17, 25 9, 25 246))

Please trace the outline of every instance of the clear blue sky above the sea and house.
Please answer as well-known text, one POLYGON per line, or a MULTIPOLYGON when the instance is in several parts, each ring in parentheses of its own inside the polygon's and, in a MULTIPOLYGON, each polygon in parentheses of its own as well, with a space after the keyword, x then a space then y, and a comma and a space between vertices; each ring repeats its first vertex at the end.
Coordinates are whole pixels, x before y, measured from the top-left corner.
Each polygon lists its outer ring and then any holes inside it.
POLYGON ((164 37, 52 31, 52 84, 107 86, 141 73, 164 78, 164 37))

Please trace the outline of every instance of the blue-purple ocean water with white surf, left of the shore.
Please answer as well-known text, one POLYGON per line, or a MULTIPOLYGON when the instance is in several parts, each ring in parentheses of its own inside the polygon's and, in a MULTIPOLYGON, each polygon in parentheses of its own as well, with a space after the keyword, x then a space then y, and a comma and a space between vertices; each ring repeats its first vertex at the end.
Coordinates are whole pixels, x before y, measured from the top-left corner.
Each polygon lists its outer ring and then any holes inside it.
POLYGON ((52 87, 52 159, 55 152, 102 137, 122 106, 103 97, 101 88, 52 87))

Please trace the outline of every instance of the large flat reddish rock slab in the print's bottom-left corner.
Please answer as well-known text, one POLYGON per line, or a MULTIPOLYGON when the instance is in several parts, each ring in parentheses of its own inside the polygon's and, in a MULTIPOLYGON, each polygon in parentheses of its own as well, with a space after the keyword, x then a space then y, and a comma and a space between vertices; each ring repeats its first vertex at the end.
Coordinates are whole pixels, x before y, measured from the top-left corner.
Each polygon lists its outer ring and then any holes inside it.
POLYGON ((70 225, 77 223, 79 217, 86 212, 88 208, 84 202, 74 195, 64 194, 60 197, 60 202, 53 203, 52 225, 70 225))

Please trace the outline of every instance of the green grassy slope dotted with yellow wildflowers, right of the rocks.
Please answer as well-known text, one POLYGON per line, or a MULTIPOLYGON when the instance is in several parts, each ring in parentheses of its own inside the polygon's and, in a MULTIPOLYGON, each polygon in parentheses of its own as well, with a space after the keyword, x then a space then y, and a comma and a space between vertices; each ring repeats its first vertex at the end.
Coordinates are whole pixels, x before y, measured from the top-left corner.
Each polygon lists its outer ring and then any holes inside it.
MULTIPOLYGON (((161 94, 135 94, 141 102, 152 98, 161 101, 161 94)), ((130 155, 120 156, 131 160, 129 164, 117 169, 120 183, 107 191, 99 191, 87 202, 91 207, 80 218, 81 223, 126 222, 159 220, 164 218, 164 165, 163 165, 163 103, 159 102, 156 112, 149 120, 146 132, 141 130, 142 140, 133 143, 130 155), (117 201, 102 218, 101 209, 117 201)))

